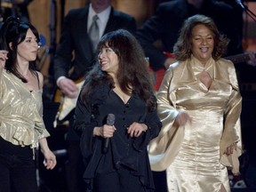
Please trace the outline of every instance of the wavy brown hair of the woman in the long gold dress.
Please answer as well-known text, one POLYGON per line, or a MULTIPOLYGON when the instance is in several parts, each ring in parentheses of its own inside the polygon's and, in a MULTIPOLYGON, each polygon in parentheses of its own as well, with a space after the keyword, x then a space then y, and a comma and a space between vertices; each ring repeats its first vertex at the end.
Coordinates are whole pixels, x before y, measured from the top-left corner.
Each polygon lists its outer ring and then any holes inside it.
POLYGON ((173 47, 173 53, 177 60, 187 60, 192 53, 192 30, 197 25, 204 25, 212 31, 214 40, 214 48, 212 51, 212 58, 219 60, 220 57, 227 52, 229 39, 221 35, 214 21, 210 17, 206 17, 201 14, 196 14, 189 17, 184 21, 182 28, 180 29, 180 36, 176 44, 173 47))

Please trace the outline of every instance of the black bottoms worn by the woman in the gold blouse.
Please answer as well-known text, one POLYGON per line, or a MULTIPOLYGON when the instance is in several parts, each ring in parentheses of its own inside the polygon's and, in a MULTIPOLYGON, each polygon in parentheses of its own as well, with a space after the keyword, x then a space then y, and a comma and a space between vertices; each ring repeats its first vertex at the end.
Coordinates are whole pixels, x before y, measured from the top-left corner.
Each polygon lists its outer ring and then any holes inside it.
POLYGON ((15 146, 0 137, 0 191, 36 192, 36 163, 33 149, 15 146), (10 180, 12 178, 12 180, 10 180), (6 188, 11 186, 12 189, 6 188))

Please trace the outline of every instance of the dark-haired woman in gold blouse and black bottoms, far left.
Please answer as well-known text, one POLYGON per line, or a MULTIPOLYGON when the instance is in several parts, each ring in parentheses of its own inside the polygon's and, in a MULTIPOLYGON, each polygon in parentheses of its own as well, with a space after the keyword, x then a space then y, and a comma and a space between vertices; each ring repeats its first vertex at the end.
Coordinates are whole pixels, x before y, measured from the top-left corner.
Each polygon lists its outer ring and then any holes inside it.
POLYGON ((0 32, 0 190, 36 192, 38 143, 46 169, 56 165, 45 139, 43 75, 34 66, 39 36, 32 25, 12 17, 0 32))

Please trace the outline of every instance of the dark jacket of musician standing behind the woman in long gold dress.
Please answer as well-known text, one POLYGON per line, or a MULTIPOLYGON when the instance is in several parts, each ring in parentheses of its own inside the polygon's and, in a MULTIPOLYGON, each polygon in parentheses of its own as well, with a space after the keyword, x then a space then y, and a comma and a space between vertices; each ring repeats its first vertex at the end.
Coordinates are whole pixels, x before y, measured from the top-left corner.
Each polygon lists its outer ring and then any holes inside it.
POLYGON ((187 0, 172 0, 159 4, 156 14, 149 18, 138 29, 136 37, 140 41, 146 56, 149 58, 150 67, 155 71, 164 68, 167 56, 163 52, 172 52, 173 45, 177 42, 180 28, 184 20, 197 13, 211 17, 221 33, 230 39, 227 55, 243 52, 241 20, 237 21, 235 9, 223 2, 204 0, 200 10, 196 10, 187 0), (156 48, 156 40, 161 40, 161 48, 156 48))

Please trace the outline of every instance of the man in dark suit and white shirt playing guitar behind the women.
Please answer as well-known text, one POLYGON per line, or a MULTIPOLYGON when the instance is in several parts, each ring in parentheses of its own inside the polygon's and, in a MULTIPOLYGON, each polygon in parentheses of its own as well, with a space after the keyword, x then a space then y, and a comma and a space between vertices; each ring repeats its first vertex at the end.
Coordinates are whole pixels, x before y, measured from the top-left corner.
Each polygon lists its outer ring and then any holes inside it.
MULTIPOLYGON (((96 21, 99 29, 99 39, 102 35, 124 28, 132 32, 136 31, 135 19, 118 12, 111 6, 111 0, 91 0, 86 7, 71 10, 64 19, 60 36, 60 44, 54 56, 54 78, 61 92, 68 98, 77 98, 79 89, 75 80, 83 78, 92 67, 95 52, 89 31, 92 26, 92 18, 97 14, 96 21), (70 70, 72 72, 70 73, 70 70)), ((72 111, 70 114, 74 113, 72 111)), ((71 115, 72 116, 72 115, 71 115)), ((68 140, 68 184, 70 191, 82 191, 77 180, 82 179, 82 156, 79 148, 79 137, 72 129, 72 117, 69 120, 67 134, 68 140)), ((83 182, 82 182, 83 183, 83 182)))

